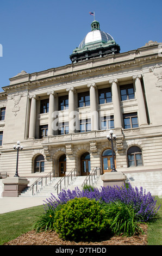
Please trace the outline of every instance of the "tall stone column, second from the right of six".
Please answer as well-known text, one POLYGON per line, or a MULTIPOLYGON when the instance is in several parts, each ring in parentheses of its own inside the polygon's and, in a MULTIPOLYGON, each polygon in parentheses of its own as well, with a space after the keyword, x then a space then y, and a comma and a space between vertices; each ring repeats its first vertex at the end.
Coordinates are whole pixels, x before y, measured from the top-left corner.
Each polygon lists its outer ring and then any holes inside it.
POLYGON ((121 117, 121 107, 120 107, 120 97, 117 88, 117 79, 109 80, 111 84, 112 100, 114 106, 114 126, 115 128, 122 127, 122 117, 121 117))

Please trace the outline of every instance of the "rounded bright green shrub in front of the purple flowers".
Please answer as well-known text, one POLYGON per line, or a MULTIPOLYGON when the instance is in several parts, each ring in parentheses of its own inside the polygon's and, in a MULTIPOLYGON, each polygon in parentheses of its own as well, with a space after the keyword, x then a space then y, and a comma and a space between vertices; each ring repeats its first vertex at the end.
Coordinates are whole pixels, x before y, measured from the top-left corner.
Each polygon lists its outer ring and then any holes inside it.
POLYGON ((101 204, 86 197, 74 198, 55 212, 54 228, 67 240, 92 240, 109 227, 101 204))

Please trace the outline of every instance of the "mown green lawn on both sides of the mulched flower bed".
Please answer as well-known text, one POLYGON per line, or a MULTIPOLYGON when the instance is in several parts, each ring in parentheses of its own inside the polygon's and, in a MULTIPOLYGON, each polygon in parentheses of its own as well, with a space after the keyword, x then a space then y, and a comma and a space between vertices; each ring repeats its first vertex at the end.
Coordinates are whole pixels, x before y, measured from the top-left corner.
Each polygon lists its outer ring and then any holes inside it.
MULTIPOLYGON (((157 199, 157 221, 148 224, 148 245, 162 245, 162 198, 157 199)), ((33 230, 35 221, 44 212, 43 205, 0 214, 0 245, 33 230)))

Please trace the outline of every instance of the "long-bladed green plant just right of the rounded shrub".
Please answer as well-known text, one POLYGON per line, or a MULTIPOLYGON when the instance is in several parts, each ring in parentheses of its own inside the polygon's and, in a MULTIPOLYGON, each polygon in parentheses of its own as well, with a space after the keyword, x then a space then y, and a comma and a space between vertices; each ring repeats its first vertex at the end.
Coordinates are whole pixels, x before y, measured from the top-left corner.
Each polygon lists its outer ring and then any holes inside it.
POLYGON ((132 205, 126 205, 122 202, 104 204, 104 210, 108 218, 111 218, 110 229, 116 235, 139 235, 142 229, 139 227, 139 217, 135 215, 132 205))

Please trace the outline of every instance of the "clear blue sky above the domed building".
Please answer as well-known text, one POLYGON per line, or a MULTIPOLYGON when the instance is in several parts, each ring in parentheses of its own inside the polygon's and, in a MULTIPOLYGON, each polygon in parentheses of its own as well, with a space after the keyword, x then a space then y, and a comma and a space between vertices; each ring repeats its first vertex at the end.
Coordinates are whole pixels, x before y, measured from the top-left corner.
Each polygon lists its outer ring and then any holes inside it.
POLYGON ((91 31, 89 11, 126 52, 149 40, 162 42, 161 10, 161 0, 1 0, 0 92, 22 70, 70 64, 73 49, 91 31))

